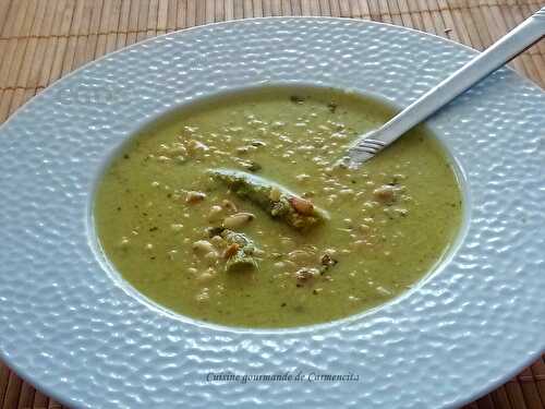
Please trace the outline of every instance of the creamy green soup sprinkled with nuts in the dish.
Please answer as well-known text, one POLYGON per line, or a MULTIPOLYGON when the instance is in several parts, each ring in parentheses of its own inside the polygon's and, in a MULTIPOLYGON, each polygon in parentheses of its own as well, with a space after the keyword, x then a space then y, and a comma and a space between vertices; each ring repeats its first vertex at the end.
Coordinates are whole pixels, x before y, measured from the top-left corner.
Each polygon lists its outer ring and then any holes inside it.
POLYGON ((106 170, 94 215, 104 252, 149 299, 218 324, 289 327, 379 305, 431 272, 461 224, 457 177, 424 128, 358 170, 337 165, 392 115, 292 87, 173 113, 106 170), (258 180, 264 196, 217 169, 258 180))

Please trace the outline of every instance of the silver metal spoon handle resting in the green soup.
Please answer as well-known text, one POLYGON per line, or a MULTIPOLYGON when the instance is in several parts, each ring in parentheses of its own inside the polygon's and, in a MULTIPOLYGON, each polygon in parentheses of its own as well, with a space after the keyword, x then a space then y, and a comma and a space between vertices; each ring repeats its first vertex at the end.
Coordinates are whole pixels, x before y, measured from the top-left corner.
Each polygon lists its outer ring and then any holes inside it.
POLYGON ((372 158, 403 133, 456 98, 473 84, 504 65, 545 35, 545 8, 526 19, 484 52, 422 95, 377 130, 363 135, 348 151, 349 163, 358 166, 372 158))

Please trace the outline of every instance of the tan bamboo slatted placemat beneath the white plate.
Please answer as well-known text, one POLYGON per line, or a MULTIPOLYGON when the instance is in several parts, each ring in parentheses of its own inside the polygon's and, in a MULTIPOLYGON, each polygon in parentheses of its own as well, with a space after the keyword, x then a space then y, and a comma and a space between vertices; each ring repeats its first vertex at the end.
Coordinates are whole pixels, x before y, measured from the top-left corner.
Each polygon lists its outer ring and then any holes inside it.
MULTIPOLYGON (((544 5, 545 0, 0 0, 0 123, 85 62, 195 25, 331 15, 404 25, 482 50, 544 5)), ((545 87, 545 41, 511 64, 545 87)), ((467 408, 545 408, 544 358, 467 408)), ((61 406, 0 362, 0 408, 61 406)))

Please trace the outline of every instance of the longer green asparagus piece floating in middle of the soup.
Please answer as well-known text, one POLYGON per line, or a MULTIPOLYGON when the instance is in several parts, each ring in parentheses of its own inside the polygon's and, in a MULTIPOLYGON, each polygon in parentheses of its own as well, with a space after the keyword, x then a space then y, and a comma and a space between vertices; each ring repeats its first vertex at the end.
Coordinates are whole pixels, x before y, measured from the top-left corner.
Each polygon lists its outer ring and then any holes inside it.
POLYGON ((310 201, 255 175, 229 169, 214 169, 210 173, 240 197, 250 200, 272 218, 296 230, 308 230, 328 218, 325 210, 310 201))

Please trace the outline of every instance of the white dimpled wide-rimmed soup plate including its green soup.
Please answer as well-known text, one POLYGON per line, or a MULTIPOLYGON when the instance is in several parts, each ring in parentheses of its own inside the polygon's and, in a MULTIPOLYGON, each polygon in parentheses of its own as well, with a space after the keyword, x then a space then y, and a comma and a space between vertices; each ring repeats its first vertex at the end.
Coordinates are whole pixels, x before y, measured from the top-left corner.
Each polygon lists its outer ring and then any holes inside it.
POLYGON ((543 93, 500 70, 335 165, 472 52, 266 19, 45 91, 1 129, 3 358, 76 407, 437 408, 501 382, 543 349, 543 93))

